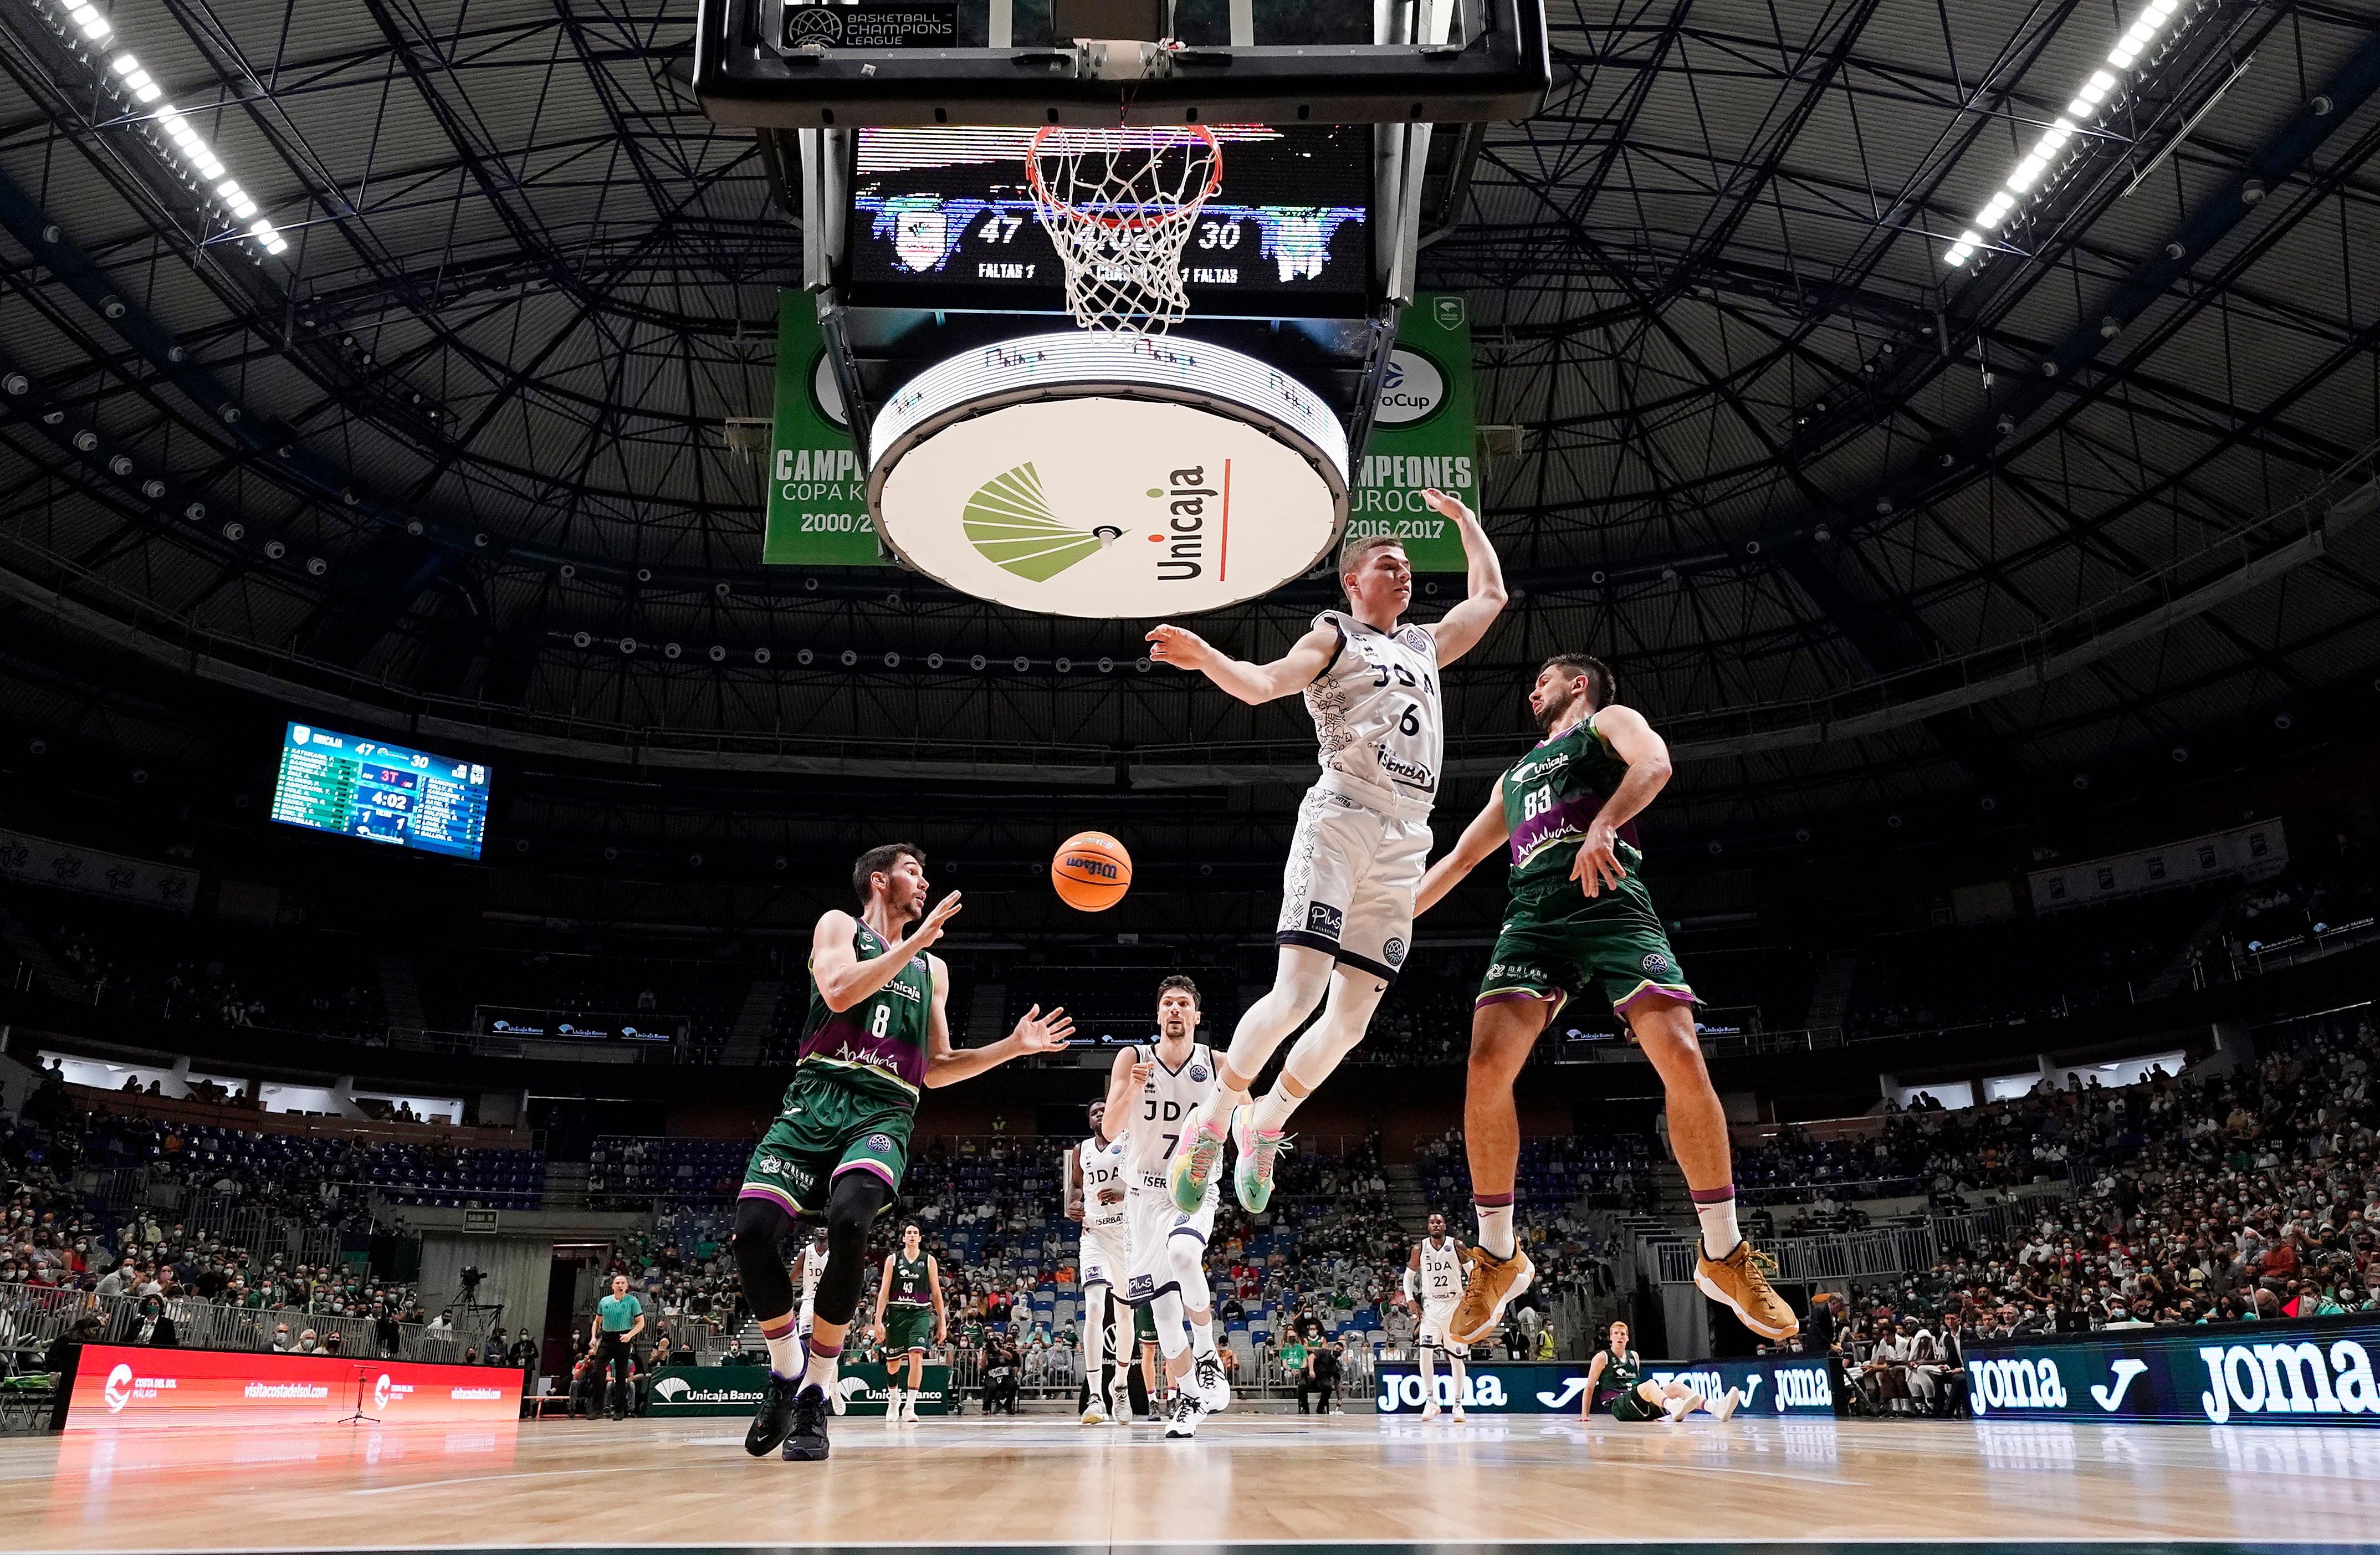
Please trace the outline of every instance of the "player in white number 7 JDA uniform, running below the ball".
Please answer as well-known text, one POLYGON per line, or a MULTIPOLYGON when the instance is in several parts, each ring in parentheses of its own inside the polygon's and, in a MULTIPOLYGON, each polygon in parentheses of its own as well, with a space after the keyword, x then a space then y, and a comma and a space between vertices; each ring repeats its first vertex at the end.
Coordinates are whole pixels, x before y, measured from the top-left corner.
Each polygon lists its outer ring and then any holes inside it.
POLYGON ((1197 1436, 1197 1422, 1230 1403, 1214 1348, 1214 1295, 1207 1291, 1207 1238, 1214 1234, 1214 1184, 1183 1210, 1166 1191, 1166 1160, 1200 1103, 1214 1095, 1214 1050, 1197 1041, 1197 983, 1157 983, 1157 1041, 1126 1048, 1107 1076, 1100 1136, 1123 1134, 1123 1207, 1130 1274, 1123 1300, 1150 1307, 1166 1381, 1178 1386, 1166 1436, 1197 1436))

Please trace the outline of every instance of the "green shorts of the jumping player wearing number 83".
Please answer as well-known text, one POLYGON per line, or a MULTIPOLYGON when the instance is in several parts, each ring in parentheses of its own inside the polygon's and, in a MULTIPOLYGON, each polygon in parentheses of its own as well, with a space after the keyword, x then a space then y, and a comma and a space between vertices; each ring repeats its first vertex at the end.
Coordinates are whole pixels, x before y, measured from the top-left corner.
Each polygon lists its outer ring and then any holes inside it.
POLYGON ((1511 898, 1480 981, 1480 1005, 1545 1000, 1552 1005, 1552 1022, 1573 995, 1587 993, 1606 1000, 1623 1019, 1647 1005, 1695 1003, 1652 893, 1637 876, 1642 855, 1626 843, 1621 850, 1628 879, 1618 891, 1587 895, 1564 879, 1511 898))

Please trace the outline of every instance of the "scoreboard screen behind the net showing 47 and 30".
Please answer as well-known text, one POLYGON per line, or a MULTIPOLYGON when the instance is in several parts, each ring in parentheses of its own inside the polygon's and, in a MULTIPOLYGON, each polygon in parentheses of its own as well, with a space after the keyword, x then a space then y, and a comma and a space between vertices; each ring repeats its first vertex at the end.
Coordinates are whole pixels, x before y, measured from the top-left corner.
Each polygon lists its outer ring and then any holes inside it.
MULTIPOLYGON (((1223 183, 1183 248, 1207 314, 1361 314, 1371 286, 1371 126, 1216 126, 1223 183)), ((852 302, 1064 307, 1064 271, 1026 188, 1031 129, 862 129, 852 302)))

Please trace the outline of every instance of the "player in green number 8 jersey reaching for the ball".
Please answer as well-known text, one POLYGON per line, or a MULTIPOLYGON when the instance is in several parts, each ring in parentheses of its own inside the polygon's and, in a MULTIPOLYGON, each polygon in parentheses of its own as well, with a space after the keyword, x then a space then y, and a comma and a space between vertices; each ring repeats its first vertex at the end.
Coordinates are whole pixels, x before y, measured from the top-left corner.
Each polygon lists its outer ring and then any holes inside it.
POLYGON ((769 1343, 769 1386, 745 1431, 754 1457, 778 1443, 788 1460, 826 1457, 835 1364, 866 1276, 869 1222, 900 1188, 919 1093, 1026 1053, 1057 1053, 1073 1031, 1064 1010, 1042 1014, 1035 1005, 997 1043, 952 1048, 950 969, 926 948, 959 912, 959 893, 926 912, 926 853, 912 843, 862 853, 852 891, 859 917, 828 912, 809 936, 802 1055, 735 1200, 735 1272, 769 1343), (923 922, 902 938, 916 919, 923 922), (807 1355, 778 1253, 795 1214, 826 1219, 807 1355))

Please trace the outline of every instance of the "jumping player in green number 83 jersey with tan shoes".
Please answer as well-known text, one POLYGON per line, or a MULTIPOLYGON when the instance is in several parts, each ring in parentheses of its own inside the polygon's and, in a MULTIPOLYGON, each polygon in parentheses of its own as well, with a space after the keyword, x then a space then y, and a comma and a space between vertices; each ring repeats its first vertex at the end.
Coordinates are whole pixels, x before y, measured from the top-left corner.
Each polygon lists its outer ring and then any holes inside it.
POLYGON ((1480 1248, 1449 1324, 1454 1343, 1495 1331, 1535 1279, 1511 1224, 1521 1162, 1511 1081, 1573 993, 1606 998, 1661 1074, 1671 1148, 1702 1222, 1695 1284, 1764 1338, 1802 1326, 1735 1226, 1728 1114, 1695 1041, 1695 988, 1645 891, 1635 817, 1668 783, 1668 745, 1614 691, 1611 669, 1583 652, 1557 652, 1537 669, 1528 710, 1545 738, 1497 779, 1488 807, 1414 895, 1418 917, 1490 853, 1511 850, 1511 905, 1471 1010, 1464 1148, 1480 1248))

